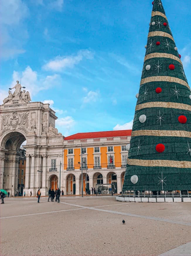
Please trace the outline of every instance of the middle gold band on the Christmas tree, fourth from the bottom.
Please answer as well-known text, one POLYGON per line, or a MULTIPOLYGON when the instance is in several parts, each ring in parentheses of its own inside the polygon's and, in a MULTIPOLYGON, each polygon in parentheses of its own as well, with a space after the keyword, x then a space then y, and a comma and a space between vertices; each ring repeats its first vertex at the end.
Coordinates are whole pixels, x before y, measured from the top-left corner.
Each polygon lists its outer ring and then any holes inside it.
POLYGON ((149 83, 149 82, 172 82, 177 84, 182 84, 190 89, 188 83, 177 77, 168 77, 168 76, 155 76, 155 77, 146 77, 141 79, 141 84, 149 83))

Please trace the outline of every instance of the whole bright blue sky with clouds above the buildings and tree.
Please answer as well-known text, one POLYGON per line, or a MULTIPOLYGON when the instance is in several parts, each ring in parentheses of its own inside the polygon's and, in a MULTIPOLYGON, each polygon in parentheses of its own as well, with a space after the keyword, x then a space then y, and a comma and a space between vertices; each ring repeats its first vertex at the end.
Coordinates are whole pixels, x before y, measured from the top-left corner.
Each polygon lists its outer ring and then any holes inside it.
MULTIPOLYGON (((163 0, 191 82, 191 1, 163 0)), ((131 129, 152 1, 2 0, 2 100, 16 80, 64 136, 131 129)))

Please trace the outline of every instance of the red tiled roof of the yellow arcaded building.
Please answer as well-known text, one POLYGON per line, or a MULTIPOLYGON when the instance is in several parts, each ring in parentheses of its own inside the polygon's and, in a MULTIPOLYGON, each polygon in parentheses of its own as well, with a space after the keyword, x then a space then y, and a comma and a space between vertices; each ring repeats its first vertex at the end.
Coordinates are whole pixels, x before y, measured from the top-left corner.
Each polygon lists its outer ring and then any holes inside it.
POLYGON ((131 132, 132 130, 105 131, 105 132, 79 132, 79 133, 70 135, 68 137, 65 137, 64 140, 123 137, 123 136, 131 136, 131 132))

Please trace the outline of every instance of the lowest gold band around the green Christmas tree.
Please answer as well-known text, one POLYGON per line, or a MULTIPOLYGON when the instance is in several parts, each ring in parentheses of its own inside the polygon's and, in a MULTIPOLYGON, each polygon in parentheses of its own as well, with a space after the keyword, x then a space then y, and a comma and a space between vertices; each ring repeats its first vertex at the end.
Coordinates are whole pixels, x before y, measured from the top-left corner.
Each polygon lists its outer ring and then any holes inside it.
POLYGON ((173 160, 141 160, 127 158, 127 164, 149 167, 177 167, 191 168, 191 161, 173 161, 173 160))

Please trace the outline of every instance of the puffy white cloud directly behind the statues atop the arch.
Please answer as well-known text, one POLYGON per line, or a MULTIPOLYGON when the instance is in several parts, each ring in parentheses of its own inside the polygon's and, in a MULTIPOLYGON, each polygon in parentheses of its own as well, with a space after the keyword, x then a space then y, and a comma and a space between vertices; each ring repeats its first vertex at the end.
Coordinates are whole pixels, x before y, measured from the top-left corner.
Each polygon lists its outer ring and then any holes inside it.
POLYGON ((30 97, 37 94, 38 92, 48 89, 53 86, 58 86, 60 84, 60 76, 54 74, 52 76, 47 76, 41 79, 38 79, 36 71, 33 71, 31 67, 26 67, 26 69, 20 74, 16 71, 13 71, 13 81, 8 87, 13 87, 16 84, 16 81, 21 79, 21 85, 26 87, 26 91, 29 91, 30 97), (21 77, 21 78, 20 78, 21 77))

